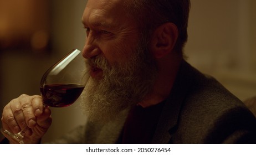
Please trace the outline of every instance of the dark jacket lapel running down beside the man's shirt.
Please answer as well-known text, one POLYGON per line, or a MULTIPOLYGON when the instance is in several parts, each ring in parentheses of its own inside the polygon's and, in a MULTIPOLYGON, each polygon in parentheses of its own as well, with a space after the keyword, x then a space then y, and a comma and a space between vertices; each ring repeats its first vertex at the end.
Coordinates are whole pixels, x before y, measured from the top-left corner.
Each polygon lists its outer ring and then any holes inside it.
POLYGON ((162 114, 159 118, 152 143, 170 143, 171 135, 177 129, 178 117, 186 94, 192 85, 191 74, 193 68, 185 60, 182 61, 175 84, 165 101, 162 114))

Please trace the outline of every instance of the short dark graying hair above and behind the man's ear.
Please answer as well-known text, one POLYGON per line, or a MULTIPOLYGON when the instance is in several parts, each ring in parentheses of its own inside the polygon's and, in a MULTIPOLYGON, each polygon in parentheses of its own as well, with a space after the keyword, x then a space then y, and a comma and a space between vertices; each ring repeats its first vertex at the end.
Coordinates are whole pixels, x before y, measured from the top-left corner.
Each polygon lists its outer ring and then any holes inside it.
POLYGON ((127 16, 135 18, 141 32, 147 38, 163 23, 171 22, 178 28, 175 50, 183 53, 187 42, 190 0, 129 0, 126 1, 127 16))

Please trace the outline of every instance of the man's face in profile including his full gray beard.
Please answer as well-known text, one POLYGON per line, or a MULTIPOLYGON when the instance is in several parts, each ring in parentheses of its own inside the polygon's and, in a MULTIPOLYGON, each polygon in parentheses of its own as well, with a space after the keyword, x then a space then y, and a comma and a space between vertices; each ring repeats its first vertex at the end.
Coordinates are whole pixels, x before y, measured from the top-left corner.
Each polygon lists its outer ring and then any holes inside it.
POLYGON ((91 78, 82 107, 91 120, 110 120, 140 102, 155 82, 155 60, 140 38, 124 0, 89 0, 83 15, 87 39, 83 55, 91 78))

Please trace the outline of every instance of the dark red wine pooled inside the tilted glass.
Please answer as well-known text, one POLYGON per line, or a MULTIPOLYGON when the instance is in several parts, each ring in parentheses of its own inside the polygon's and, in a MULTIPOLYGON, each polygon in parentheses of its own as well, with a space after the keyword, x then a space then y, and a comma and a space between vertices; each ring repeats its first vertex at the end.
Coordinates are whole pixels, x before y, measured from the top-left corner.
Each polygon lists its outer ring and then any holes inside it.
POLYGON ((51 107, 65 107, 73 104, 84 86, 78 84, 53 84, 40 87, 43 103, 51 107))

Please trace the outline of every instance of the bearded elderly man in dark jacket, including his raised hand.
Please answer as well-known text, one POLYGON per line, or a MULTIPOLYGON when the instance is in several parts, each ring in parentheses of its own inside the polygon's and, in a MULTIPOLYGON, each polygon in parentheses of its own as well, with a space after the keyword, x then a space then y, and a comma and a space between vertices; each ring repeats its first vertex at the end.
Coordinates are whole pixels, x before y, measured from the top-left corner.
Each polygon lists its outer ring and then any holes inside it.
MULTIPOLYGON (((189 9, 189 0, 89 0, 88 122, 54 143, 254 143, 252 113, 184 59, 189 9)), ((39 143, 52 119, 40 96, 22 95, 2 122, 15 133, 28 126, 24 142, 39 143)))

